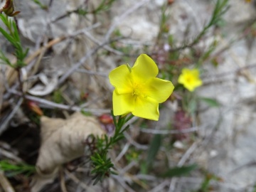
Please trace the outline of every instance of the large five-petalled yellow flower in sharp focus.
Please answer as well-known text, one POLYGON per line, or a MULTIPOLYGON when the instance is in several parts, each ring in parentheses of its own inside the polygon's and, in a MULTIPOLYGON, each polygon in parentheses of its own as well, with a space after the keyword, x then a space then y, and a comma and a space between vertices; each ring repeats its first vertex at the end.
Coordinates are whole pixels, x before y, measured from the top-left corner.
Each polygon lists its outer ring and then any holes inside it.
POLYGON ((166 101, 174 90, 170 81, 156 78, 158 73, 156 63, 146 54, 139 55, 132 68, 127 64, 112 70, 114 115, 132 112, 137 117, 157 121, 159 103, 166 101))

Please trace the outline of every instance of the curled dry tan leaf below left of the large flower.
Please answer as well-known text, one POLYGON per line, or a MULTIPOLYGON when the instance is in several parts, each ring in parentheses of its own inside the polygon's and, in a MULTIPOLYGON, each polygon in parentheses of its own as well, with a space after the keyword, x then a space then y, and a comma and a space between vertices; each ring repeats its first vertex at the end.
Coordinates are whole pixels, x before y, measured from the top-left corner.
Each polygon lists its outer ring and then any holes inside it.
POLYGON ((62 164, 85 154, 85 140, 90 134, 101 137, 105 132, 94 117, 80 112, 68 119, 41 117, 41 148, 31 191, 53 181, 62 164))

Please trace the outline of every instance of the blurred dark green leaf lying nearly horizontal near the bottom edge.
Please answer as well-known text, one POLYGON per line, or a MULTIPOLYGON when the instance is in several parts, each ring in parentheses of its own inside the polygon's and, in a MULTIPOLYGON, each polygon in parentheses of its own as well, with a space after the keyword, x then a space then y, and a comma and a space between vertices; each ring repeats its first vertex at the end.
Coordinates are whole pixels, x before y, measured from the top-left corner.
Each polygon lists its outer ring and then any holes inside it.
POLYGON ((174 176, 183 176, 189 174, 191 171, 197 168, 196 164, 192 164, 190 166, 176 166, 171 169, 168 169, 161 174, 161 177, 174 177, 174 176))

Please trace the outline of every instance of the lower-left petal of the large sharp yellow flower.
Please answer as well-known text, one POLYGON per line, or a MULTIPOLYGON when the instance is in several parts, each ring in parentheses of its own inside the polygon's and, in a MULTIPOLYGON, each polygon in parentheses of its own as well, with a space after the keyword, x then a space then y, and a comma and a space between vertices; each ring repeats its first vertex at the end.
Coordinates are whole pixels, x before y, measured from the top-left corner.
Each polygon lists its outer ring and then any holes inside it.
POLYGON ((131 94, 119 95, 116 90, 113 92, 113 113, 122 115, 134 110, 134 98, 131 94))

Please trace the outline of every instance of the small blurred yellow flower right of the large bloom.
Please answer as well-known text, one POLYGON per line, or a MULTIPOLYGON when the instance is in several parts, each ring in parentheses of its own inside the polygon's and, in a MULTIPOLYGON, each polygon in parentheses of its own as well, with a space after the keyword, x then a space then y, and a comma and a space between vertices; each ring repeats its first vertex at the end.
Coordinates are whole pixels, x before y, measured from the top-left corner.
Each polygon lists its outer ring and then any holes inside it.
POLYGON ((202 80, 199 78, 199 70, 190 70, 188 68, 183 68, 181 75, 178 77, 178 82, 183 84, 184 87, 191 92, 195 90, 196 87, 203 84, 202 80))

